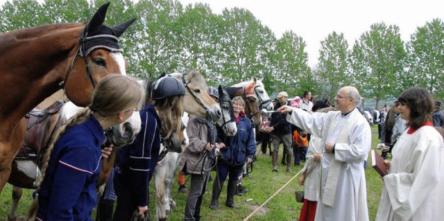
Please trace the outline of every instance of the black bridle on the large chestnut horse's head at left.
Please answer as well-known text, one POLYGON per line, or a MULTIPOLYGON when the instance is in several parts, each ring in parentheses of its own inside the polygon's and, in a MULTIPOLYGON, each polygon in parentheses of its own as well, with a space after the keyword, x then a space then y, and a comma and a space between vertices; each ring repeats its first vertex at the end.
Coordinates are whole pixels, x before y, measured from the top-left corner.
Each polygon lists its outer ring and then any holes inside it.
MULTIPOLYGON (((85 28, 83 28, 83 30, 82 30, 82 35, 80 36, 80 39, 79 39, 80 46, 78 47, 77 53, 74 56, 73 60, 71 61, 71 65, 69 66, 67 75, 65 76, 65 80, 63 80, 62 82, 59 83, 60 87, 63 87, 63 91, 65 91, 65 86, 66 86, 66 82, 67 82, 69 73, 71 73, 72 68, 74 67, 74 61, 76 60, 77 56, 80 56, 83 58, 83 60, 85 60, 86 74, 87 74, 87 77, 89 78, 89 81, 91 82, 92 88, 94 89, 94 88, 96 88, 96 82, 94 82, 94 78, 92 77, 91 68, 89 67, 89 62, 87 59, 87 56, 89 55, 89 53, 94 51, 96 48, 106 48, 108 51, 120 51, 117 49, 112 50, 112 48, 110 48, 108 46, 103 46, 103 45, 97 45, 92 48, 89 48, 88 51, 85 51, 85 43, 88 41, 91 41, 93 39, 110 38, 110 39, 114 39, 116 41, 119 40, 117 37, 115 37, 113 35, 94 35, 91 37, 87 37, 87 32, 85 31, 86 27, 87 26, 85 26, 85 28)), ((66 94, 66 92, 65 92, 65 94, 66 94)))

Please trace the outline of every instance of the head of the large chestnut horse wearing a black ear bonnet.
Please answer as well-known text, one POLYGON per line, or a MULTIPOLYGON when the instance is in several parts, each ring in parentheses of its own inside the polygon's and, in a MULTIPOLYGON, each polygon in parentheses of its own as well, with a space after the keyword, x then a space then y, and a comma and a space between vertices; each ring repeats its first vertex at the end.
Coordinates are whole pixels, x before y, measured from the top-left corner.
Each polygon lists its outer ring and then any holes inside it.
POLYGON ((135 19, 113 27, 105 26, 103 21, 109 5, 108 2, 101 6, 87 22, 80 33, 76 54, 67 68, 65 93, 78 106, 91 103, 90 95, 96 83, 108 74, 126 75, 126 60, 123 58, 118 37, 135 19))

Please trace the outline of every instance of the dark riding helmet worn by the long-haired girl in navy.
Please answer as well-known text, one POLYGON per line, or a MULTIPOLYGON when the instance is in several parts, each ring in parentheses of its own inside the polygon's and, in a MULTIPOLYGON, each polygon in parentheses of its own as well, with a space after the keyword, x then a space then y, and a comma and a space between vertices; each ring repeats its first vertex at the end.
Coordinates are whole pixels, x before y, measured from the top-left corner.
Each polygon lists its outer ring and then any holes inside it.
POLYGON ((177 78, 172 76, 164 76, 153 82, 151 88, 151 98, 159 100, 173 96, 186 95, 185 86, 177 78))

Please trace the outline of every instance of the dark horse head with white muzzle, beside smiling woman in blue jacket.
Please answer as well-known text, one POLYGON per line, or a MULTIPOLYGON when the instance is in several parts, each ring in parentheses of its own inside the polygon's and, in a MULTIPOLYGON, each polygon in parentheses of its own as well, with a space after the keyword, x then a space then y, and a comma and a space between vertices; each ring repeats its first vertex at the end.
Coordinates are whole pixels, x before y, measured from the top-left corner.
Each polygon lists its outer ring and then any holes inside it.
POLYGON ((216 123, 222 127, 223 132, 227 136, 234 136, 237 133, 236 117, 233 112, 233 104, 231 103, 230 96, 227 91, 222 88, 221 85, 218 87, 219 91, 219 106, 222 110, 222 118, 216 123))

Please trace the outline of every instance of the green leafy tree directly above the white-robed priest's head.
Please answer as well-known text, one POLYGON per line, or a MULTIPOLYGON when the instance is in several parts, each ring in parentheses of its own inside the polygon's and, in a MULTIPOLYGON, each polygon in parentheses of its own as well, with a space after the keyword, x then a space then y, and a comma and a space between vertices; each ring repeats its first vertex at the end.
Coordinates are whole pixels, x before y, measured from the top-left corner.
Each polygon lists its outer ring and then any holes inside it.
POLYGON ((328 35, 321 42, 318 58, 319 83, 322 85, 320 94, 333 100, 336 92, 341 87, 350 85, 350 52, 348 51, 348 42, 343 33, 336 32, 328 35))

